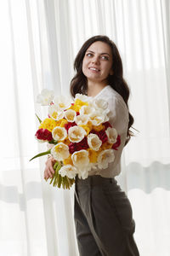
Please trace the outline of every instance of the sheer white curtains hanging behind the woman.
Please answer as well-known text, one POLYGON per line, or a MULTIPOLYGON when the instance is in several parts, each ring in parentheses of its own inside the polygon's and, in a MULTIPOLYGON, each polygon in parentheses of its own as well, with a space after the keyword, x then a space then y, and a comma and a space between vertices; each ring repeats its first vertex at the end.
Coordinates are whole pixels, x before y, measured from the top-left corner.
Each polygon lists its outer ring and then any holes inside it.
POLYGON ((7 0, 0 2, 0 255, 76 256, 74 187, 43 180, 37 144, 42 88, 69 95, 84 41, 105 34, 122 56, 139 132, 116 177, 132 203, 141 256, 170 252, 170 3, 168 0, 7 0))

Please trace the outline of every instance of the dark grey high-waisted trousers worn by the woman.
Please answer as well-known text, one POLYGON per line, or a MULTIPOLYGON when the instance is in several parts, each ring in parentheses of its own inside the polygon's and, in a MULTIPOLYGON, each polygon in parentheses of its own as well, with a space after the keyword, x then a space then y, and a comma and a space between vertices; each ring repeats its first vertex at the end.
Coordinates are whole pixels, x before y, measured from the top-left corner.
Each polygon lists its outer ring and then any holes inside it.
POLYGON ((74 207, 80 256, 139 256, 132 207, 115 178, 76 177, 74 207))

